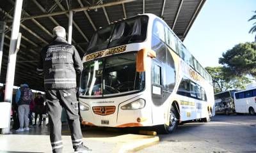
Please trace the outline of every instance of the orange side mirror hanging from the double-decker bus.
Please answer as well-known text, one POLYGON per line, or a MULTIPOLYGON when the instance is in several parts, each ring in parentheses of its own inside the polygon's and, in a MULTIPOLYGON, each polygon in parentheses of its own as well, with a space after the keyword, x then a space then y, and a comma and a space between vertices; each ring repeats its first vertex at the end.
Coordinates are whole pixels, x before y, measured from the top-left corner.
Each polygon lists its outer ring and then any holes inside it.
POLYGON ((156 58, 156 52, 154 50, 148 49, 148 48, 143 48, 138 51, 137 56, 136 56, 136 71, 137 72, 142 72, 146 71, 147 69, 147 63, 146 59, 148 57, 151 58, 156 58))

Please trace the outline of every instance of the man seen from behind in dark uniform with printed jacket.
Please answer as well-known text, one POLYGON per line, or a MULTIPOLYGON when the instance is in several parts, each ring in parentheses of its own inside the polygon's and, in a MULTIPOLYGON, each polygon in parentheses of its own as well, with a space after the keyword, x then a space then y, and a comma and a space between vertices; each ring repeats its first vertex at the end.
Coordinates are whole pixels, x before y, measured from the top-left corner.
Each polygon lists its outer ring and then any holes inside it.
POLYGON ((81 73, 83 64, 76 48, 66 41, 65 29, 54 27, 54 41, 44 47, 40 54, 37 71, 44 73, 45 98, 49 114, 52 152, 62 152, 61 110, 67 112, 68 124, 75 152, 90 152, 82 142, 83 135, 76 110, 76 73, 81 73))

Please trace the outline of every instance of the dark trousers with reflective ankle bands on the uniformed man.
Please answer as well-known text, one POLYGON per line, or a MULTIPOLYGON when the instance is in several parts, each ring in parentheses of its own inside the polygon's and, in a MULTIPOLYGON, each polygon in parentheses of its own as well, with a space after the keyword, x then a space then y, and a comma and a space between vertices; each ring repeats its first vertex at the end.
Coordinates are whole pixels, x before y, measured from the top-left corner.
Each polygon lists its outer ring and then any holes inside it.
POLYGON ((67 112, 68 124, 71 132, 73 148, 83 145, 79 115, 77 113, 76 89, 45 90, 47 111, 49 114, 50 139, 52 152, 62 152, 61 140, 61 110, 67 112))

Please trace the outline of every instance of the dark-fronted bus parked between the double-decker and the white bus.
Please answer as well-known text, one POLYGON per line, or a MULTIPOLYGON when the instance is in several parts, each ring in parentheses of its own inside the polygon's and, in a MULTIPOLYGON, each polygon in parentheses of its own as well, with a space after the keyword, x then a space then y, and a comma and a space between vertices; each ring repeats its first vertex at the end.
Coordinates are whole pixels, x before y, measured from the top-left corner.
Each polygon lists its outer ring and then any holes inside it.
POLYGON ((236 92, 236 90, 223 91, 214 94, 215 113, 225 113, 228 115, 236 112, 234 104, 234 92, 236 92))

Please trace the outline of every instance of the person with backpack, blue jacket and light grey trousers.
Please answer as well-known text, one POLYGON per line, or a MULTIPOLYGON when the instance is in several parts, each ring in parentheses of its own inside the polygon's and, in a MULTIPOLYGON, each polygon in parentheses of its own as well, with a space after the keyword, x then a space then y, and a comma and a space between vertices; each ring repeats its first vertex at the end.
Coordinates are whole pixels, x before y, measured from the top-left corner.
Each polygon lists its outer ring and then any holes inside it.
POLYGON ((18 104, 18 113, 20 128, 16 132, 29 131, 29 104, 32 101, 32 91, 29 89, 28 84, 21 84, 20 89, 16 92, 15 101, 18 104), (24 128, 25 122, 25 128, 24 128))

